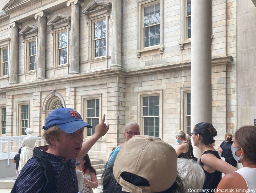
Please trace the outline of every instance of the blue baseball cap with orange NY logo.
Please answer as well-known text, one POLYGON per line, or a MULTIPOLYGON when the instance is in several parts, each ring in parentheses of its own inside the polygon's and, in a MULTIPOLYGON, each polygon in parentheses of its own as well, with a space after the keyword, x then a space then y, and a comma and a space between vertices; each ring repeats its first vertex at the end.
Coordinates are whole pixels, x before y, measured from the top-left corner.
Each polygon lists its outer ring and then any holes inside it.
POLYGON ((92 125, 85 123, 81 115, 74 109, 60 107, 52 111, 45 121, 44 130, 57 125, 66 133, 76 132, 82 127, 92 128, 92 125))

